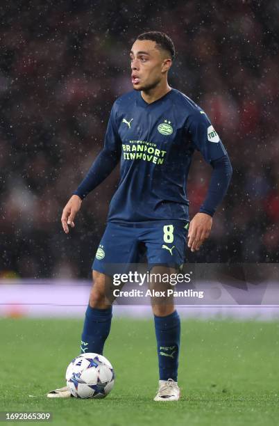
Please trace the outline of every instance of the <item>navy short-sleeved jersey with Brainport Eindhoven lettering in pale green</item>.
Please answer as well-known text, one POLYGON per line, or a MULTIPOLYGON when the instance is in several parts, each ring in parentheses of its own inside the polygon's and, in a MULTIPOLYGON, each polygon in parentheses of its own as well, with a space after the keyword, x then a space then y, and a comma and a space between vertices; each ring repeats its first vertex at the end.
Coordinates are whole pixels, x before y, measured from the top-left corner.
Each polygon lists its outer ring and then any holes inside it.
POLYGON ((151 104, 136 90, 119 97, 104 148, 121 158, 112 222, 188 220, 186 183, 194 150, 208 163, 226 155, 208 116, 174 88, 151 104))

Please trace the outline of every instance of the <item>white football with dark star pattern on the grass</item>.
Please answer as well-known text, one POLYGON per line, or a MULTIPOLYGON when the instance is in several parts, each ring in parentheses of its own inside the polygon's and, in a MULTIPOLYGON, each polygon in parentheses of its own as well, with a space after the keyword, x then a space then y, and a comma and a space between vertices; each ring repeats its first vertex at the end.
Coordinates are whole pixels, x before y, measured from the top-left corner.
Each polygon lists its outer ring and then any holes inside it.
POLYGON ((115 383, 110 361, 99 354, 82 354, 69 363, 67 386, 76 398, 104 398, 115 383))

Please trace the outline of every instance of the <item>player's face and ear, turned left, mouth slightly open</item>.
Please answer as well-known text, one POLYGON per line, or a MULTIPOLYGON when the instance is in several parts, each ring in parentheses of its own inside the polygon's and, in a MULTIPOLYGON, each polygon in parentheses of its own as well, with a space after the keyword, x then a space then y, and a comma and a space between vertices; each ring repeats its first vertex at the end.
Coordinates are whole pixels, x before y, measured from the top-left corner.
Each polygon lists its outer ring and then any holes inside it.
POLYGON ((150 90, 158 86, 171 61, 151 40, 136 40, 130 51, 132 84, 135 90, 150 90))

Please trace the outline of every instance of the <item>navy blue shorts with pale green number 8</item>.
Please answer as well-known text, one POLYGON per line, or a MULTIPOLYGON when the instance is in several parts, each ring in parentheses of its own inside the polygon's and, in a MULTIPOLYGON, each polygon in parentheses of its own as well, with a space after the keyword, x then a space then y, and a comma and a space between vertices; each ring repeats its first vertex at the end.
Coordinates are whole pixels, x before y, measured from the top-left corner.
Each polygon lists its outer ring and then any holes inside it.
POLYGON ((108 222, 92 269, 112 275, 119 265, 118 272, 123 273, 125 265, 143 262, 144 255, 149 269, 155 265, 180 267, 185 262, 188 228, 187 221, 108 222))

